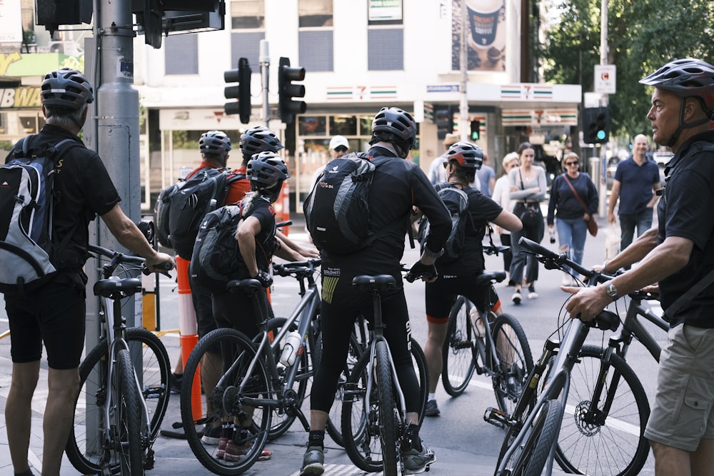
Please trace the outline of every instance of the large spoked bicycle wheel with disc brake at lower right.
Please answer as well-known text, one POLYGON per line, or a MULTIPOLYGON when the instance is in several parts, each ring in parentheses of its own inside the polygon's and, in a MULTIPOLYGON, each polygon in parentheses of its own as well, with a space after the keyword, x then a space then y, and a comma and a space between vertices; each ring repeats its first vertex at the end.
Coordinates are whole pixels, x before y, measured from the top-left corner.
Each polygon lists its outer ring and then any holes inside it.
MULTIPOLYGON (((588 419, 587 408, 593 400, 602 355, 603 349, 594 345, 584 345, 580 350, 579 361, 570 373, 565 403, 575 411, 563 418, 555 460, 565 472, 575 474, 638 475, 650 448, 644 437, 650 405, 637 375, 619 355, 611 355, 608 387, 603 390, 606 395, 613 375, 620 375, 607 420, 588 419)), ((605 396, 599 400, 598 409, 602 410, 605 396)))

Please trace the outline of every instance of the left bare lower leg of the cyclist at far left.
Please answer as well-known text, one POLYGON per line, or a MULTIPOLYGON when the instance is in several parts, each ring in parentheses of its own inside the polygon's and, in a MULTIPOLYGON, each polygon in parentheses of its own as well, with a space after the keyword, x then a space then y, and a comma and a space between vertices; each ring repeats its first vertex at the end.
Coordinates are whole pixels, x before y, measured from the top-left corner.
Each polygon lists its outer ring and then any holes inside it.
POLYGON ((39 372, 39 360, 12 364, 12 381, 5 404, 5 422, 10 459, 15 472, 30 469, 27 452, 30 446, 31 402, 39 372))

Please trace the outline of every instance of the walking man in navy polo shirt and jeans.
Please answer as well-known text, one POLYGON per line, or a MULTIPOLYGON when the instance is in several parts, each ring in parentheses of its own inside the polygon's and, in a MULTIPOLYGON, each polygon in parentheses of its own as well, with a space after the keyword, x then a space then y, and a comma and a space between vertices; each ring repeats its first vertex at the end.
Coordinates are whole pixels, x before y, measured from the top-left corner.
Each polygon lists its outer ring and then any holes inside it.
POLYGON ((652 211, 658 201, 656 191, 662 186, 659 167, 646 155, 648 148, 647 137, 643 134, 636 136, 633 154, 618 163, 615 171, 608 220, 615 223, 615 203, 620 198, 620 250, 632 243, 635 226, 638 238, 652 226, 652 211))

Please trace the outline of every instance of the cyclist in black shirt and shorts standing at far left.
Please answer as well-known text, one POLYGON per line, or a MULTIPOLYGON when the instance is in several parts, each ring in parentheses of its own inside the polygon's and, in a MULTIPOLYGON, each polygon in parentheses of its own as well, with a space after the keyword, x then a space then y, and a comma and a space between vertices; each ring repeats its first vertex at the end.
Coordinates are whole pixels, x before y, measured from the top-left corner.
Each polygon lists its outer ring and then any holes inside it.
MULTIPOLYGON (((157 253, 134 222, 119 207, 119 193, 101 158, 77 136, 94 101, 84 74, 59 69, 46 74, 41 85, 45 125, 24 138, 29 151, 69 139, 55 168, 56 201, 51 222, 53 243, 61 261, 49 282, 26 293, 5 293, 11 331, 12 381, 5 405, 7 439, 14 473, 31 476, 27 461, 31 431, 31 400, 39 378, 42 345, 47 352, 49 393, 44 411, 42 474, 59 475, 62 453, 74 418, 79 391, 79 362, 84 348, 89 222, 101 216, 121 245, 146 258, 146 266, 173 262, 157 253), (65 245, 65 243, 67 243, 65 245)), ((13 152, 6 158, 6 162, 13 152)), ((8 273, 9 269, 4 269, 8 273)))

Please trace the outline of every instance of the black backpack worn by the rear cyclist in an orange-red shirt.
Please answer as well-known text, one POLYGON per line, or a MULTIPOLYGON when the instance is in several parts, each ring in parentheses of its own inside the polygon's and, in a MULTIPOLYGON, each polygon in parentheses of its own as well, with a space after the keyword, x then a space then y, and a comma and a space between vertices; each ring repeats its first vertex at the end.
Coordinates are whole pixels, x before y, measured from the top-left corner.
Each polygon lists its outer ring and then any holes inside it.
MULTIPOLYGON (((225 168, 206 167, 193 174, 183 184, 169 187, 161 201, 160 229, 166 231, 166 216, 169 217, 169 234, 166 237, 170 248, 173 248, 184 260, 190 260, 193 254, 193 243, 198 235, 206 213, 223 206, 231 183, 245 175, 229 173, 225 168), (164 208, 169 208, 168 212, 164 208)), ((158 206, 157 201, 157 206, 158 206)))

